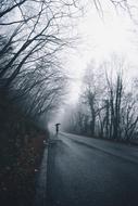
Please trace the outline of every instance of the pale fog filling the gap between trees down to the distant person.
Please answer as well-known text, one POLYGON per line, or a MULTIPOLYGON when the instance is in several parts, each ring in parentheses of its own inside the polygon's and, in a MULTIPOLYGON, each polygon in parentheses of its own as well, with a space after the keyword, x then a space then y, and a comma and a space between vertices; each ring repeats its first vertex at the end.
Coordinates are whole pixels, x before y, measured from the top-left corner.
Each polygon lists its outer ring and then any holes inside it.
MULTIPOLYGON (((137 5, 131 1, 130 5, 137 5)), ((64 110, 75 106, 80 95, 83 77, 91 62, 100 65, 116 55, 125 61, 125 76, 131 79, 137 76, 137 37, 138 15, 136 8, 114 8, 110 1, 103 1, 102 9, 97 10, 92 2, 89 2, 77 20, 75 26, 76 46, 67 49, 64 53, 63 65, 70 76, 70 92, 65 105, 54 116, 54 121, 62 121, 65 118, 64 110), (70 55, 68 55, 70 53, 70 55)))

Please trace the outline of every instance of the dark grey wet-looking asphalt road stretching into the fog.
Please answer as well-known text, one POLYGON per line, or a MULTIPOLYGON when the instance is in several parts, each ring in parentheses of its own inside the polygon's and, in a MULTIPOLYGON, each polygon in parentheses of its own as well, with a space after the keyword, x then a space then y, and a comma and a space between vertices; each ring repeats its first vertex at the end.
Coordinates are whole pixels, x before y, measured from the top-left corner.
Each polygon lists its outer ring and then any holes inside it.
POLYGON ((60 133, 48 153, 47 206, 138 206, 138 149, 60 133))

